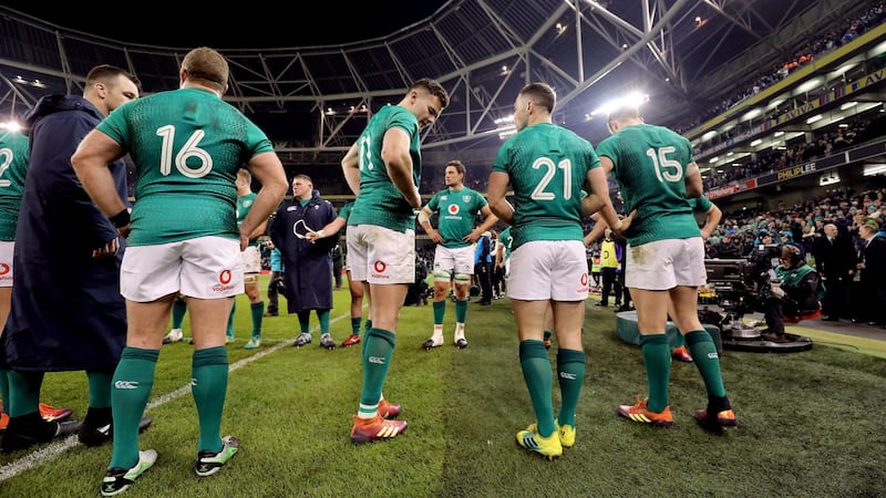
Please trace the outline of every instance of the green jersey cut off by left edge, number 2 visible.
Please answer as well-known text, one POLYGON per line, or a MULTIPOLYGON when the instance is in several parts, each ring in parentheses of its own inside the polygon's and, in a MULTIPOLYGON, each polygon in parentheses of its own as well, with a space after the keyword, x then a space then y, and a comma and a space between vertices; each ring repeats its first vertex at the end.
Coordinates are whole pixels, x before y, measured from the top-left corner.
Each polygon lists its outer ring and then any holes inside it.
POLYGON ((28 173, 28 137, 0 129, 0 240, 16 240, 24 177, 28 173))

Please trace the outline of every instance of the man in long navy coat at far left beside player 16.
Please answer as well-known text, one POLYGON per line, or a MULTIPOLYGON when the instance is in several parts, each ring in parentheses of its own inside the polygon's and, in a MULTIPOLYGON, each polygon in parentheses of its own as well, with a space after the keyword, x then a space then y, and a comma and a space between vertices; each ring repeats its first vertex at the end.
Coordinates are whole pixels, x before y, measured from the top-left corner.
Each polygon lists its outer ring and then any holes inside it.
MULTIPOLYGON (((111 382, 126 342, 120 294, 125 240, 83 190, 71 165, 80 141, 114 108, 138 97, 138 79, 100 65, 83 96, 48 95, 25 116, 31 154, 21 200, 7 322, 10 422, 2 449, 11 452, 65 436, 78 423, 40 417, 44 372, 86 371, 90 406, 79 438, 111 440, 111 382)), ((110 164, 126 199, 126 165, 110 164)))

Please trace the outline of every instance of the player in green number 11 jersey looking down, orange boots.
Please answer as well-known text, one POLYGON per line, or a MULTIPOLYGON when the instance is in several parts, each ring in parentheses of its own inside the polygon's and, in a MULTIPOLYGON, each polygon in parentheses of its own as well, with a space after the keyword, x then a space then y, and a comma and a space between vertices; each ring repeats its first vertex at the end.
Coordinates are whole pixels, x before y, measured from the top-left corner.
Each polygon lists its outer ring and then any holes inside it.
POLYGON ((363 340, 363 385, 351 442, 392 438, 405 421, 385 419, 379 402, 393 357, 396 323, 415 280, 415 210, 422 205, 420 129, 449 104, 446 90, 422 79, 396 105, 380 108, 351 146, 341 168, 354 200, 348 217, 348 267, 363 282, 372 328, 363 340))

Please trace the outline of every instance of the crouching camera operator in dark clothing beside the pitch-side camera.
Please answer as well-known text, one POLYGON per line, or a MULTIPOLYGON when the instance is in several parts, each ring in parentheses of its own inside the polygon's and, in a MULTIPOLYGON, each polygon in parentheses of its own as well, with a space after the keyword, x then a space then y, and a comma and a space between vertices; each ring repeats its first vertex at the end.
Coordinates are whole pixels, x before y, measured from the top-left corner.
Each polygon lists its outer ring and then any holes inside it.
POLYGON ((766 330, 762 339, 789 342, 784 334, 785 317, 803 317, 818 311, 818 300, 824 297, 824 284, 818 273, 806 264, 803 248, 786 243, 781 249, 781 264, 770 276, 769 290, 763 292, 763 315, 766 330))

